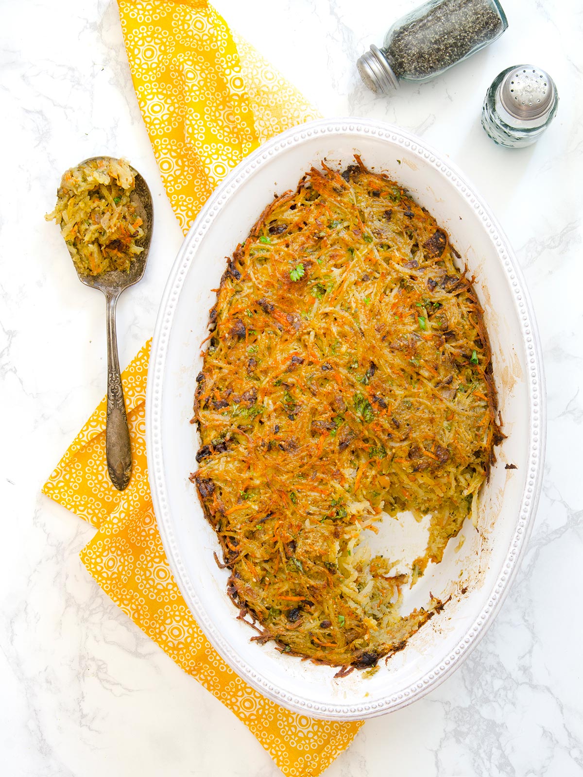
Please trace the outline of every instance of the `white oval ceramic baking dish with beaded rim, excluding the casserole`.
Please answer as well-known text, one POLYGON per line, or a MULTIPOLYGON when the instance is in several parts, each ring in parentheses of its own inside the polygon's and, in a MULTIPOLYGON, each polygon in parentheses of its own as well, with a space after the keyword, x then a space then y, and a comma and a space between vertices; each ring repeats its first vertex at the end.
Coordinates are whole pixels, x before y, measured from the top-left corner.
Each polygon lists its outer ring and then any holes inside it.
MULTIPOLYGON (((264 695, 324 719, 359 720, 413 702, 435 688, 470 653, 508 593, 529 536, 539 497, 544 453, 544 383, 536 323, 508 242, 479 195, 450 162, 413 135, 372 120, 317 120, 274 138, 239 164, 210 197, 176 258, 162 297, 148 371, 146 437, 155 514, 176 581, 218 653, 264 695), (196 469, 196 427, 189 423, 201 341, 229 256, 274 193, 295 188, 303 173, 326 159, 344 169, 361 155, 388 172, 445 227, 476 275, 494 352, 499 406, 508 438, 480 500, 478 527, 450 541, 444 560, 430 565, 405 605, 423 605, 428 592, 451 596, 444 610, 372 677, 354 671, 335 679, 333 667, 250 642, 225 592, 227 570, 213 551, 190 472, 196 469), (518 469, 507 469, 506 465, 518 469)), ((381 542, 403 545, 386 519, 381 542)))

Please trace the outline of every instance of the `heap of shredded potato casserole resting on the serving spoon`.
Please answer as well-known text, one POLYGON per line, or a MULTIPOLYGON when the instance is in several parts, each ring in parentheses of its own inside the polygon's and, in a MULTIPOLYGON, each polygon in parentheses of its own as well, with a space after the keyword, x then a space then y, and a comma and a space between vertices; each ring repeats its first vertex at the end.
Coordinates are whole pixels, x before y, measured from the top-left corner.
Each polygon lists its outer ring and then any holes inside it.
POLYGON ((57 205, 45 218, 61 227, 80 274, 128 272, 144 250, 136 244, 144 232, 131 202, 134 188, 124 159, 92 159, 63 174, 57 205))

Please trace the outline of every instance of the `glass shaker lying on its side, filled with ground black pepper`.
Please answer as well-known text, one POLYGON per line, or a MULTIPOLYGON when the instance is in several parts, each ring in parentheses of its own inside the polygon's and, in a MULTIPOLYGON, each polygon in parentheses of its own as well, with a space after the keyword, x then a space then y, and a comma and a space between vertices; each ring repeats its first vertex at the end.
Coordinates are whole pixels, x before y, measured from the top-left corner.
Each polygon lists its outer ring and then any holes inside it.
POLYGON ((390 94, 400 79, 428 81, 507 28, 497 0, 429 0, 393 24, 382 48, 373 44, 360 57, 358 72, 368 89, 390 94))

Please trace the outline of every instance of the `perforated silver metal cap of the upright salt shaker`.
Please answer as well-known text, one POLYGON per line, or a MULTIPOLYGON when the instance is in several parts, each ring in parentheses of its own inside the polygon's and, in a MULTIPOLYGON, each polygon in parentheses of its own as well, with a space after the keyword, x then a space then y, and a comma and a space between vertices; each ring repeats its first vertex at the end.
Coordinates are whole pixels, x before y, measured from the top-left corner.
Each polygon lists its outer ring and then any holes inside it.
POLYGON ((511 117, 529 124, 544 124, 555 102, 553 79, 532 64, 519 64, 504 76, 500 102, 511 117))

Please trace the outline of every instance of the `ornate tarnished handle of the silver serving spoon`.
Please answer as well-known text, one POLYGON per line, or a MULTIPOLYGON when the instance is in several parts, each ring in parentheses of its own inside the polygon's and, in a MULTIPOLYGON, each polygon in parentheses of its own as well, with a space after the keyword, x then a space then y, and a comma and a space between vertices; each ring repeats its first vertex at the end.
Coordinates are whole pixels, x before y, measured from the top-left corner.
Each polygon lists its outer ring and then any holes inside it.
POLYGON ((105 448, 107 470, 119 491, 126 488, 131 476, 130 430, 127 428, 124 389, 121 385, 120 361, 117 357, 115 308, 119 294, 106 294, 107 301, 107 421, 105 448))

